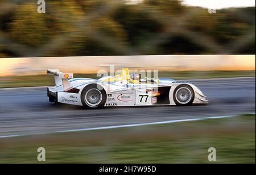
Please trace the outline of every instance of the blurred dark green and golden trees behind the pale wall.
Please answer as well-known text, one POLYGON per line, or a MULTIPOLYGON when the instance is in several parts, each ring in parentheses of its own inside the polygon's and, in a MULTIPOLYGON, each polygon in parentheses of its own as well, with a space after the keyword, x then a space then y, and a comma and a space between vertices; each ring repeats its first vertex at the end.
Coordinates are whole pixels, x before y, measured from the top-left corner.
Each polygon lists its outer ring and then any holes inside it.
POLYGON ((255 7, 176 0, 0 1, 0 57, 255 54, 255 7))

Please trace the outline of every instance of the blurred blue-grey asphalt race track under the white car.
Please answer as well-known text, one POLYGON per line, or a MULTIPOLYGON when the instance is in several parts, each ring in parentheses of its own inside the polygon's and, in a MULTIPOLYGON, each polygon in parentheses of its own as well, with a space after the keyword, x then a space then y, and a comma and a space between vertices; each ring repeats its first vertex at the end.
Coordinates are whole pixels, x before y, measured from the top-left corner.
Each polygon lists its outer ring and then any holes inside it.
POLYGON ((0 89, 0 137, 255 113, 255 77, 191 80, 209 105, 82 107, 49 103, 46 87, 0 89))

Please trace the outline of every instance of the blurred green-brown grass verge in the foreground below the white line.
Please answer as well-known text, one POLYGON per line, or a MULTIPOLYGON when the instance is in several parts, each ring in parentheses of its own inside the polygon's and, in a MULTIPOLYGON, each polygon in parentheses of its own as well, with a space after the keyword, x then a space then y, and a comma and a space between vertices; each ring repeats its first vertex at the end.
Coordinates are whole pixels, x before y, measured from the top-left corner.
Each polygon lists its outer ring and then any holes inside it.
POLYGON ((0 163, 39 163, 39 147, 45 163, 255 163, 255 115, 0 139, 0 163))

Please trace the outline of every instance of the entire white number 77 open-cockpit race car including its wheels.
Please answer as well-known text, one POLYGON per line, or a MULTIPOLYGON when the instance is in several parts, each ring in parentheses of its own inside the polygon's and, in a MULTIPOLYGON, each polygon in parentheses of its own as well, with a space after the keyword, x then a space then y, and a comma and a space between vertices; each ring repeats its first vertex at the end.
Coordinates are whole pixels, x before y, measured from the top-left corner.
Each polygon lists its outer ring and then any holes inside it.
POLYGON ((55 86, 47 88, 49 102, 98 108, 104 106, 192 105, 208 103, 205 95, 189 82, 170 78, 131 78, 123 68, 117 76, 98 80, 73 78, 72 73, 47 70, 55 86))

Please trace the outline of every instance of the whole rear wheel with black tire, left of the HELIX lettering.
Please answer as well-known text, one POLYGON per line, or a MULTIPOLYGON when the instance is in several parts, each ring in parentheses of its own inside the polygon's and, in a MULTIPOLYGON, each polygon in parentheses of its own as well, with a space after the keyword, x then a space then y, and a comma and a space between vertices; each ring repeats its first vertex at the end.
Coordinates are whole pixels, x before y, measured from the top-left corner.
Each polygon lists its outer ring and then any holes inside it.
POLYGON ((81 93, 81 102, 85 109, 103 107, 106 103, 106 91, 102 86, 97 84, 85 86, 81 93))

